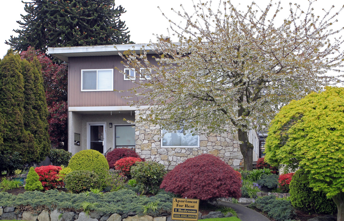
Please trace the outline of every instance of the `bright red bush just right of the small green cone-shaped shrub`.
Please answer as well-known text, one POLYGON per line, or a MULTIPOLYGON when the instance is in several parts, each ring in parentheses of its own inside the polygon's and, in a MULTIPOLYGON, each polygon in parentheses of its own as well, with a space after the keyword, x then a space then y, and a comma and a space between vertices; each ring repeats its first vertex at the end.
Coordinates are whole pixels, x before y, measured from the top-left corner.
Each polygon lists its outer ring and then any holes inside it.
POLYGON ((61 170, 61 166, 40 166, 36 167, 35 171, 40 176, 44 190, 55 189, 59 186, 63 186, 63 181, 58 181, 58 172, 61 170))

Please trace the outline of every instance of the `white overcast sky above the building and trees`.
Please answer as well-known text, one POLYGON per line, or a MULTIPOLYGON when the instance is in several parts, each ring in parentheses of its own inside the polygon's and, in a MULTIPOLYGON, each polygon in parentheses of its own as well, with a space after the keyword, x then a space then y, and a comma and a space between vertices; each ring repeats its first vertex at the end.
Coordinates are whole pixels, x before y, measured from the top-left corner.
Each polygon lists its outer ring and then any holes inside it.
MULTIPOLYGON (((26 0, 31 2, 32 0, 26 0)), ((206 0, 203 0, 203 2, 206 0)), ((209 0, 208 0, 209 1, 209 0)), ((217 0, 213 0, 217 2, 217 0)), ((195 0, 195 3, 198 2, 195 0)), ((245 6, 250 4, 252 0, 232 0, 234 5, 238 5, 239 8, 245 9, 245 6), (239 5, 240 3, 240 5, 239 5)), ((269 0, 256 0, 256 3, 264 9, 269 3, 269 0)), ((273 0, 273 2, 278 2, 273 0)), ((288 3, 290 0, 282 0, 282 5, 284 5, 283 13, 288 16, 288 3)), ((297 2, 301 5, 308 5, 307 0, 298 0, 297 2)), ((176 10, 181 10, 180 4, 186 11, 193 12, 192 0, 115 0, 116 5, 122 5, 126 13, 121 15, 121 20, 125 21, 128 30, 130 31, 131 38, 135 43, 149 43, 149 40, 156 41, 156 37, 153 34, 168 36, 167 29, 169 28, 169 22, 164 18, 161 11, 165 13, 169 19, 175 22, 181 21, 181 19, 171 11, 171 8, 176 10), (158 9, 160 7, 161 11, 158 9)), ((214 8, 217 4, 213 4, 214 8)), ((315 14, 322 14, 322 8, 329 9, 331 5, 335 5, 335 11, 339 10, 343 5, 343 0, 318 0, 314 3, 315 14)), ((19 28, 16 21, 21 19, 20 14, 26 14, 24 11, 24 4, 21 0, 0 0, 0 21, 1 21, 1 31, 0 31, 0 58, 6 55, 7 50, 10 48, 4 42, 8 40, 11 35, 18 36, 17 33, 13 32, 13 29, 19 28)), ((283 16, 281 16, 280 19, 283 16)), ((343 25, 344 21, 344 11, 338 17, 341 20, 340 25, 343 25)), ((343 34, 343 33, 342 33, 343 34)), ((341 34, 341 35, 342 35, 341 34)), ((177 39, 170 36, 173 42, 177 39)), ((344 46, 343 46, 344 47, 344 46)))

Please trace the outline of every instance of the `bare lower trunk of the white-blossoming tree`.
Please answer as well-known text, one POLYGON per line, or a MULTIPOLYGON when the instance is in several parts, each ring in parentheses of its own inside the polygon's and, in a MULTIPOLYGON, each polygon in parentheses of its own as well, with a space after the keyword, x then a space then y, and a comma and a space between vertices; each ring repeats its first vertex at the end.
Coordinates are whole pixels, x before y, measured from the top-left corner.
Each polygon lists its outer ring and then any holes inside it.
POLYGON ((247 132, 238 129, 238 140, 241 154, 244 158, 244 170, 253 170, 253 145, 248 141, 247 132))

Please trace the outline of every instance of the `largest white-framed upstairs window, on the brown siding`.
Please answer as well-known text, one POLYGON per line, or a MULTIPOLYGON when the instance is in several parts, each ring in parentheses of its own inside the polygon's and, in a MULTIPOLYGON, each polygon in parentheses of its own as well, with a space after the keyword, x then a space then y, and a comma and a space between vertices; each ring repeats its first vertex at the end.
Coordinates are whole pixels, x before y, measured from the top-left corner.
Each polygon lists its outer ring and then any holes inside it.
POLYGON ((81 70, 81 91, 113 91, 114 69, 81 70))

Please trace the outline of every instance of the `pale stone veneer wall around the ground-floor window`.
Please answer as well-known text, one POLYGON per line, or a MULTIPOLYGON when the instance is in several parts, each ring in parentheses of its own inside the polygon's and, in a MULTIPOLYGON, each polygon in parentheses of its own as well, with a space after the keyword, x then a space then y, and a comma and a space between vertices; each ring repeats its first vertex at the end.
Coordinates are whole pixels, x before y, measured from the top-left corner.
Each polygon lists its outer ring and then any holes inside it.
MULTIPOLYGON (((145 114, 145 110, 136 110, 135 118, 145 114)), ((243 155, 239 144, 229 132, 221 134, 205 133, 200 135, 200 148, 161 148, 161 128, 159 125, 135 125, 136 152, 146 161, 164 164, 168 170, 188 158, 209 153, 218 156, 228 165, 238 168, 243 165, 243 155)))

